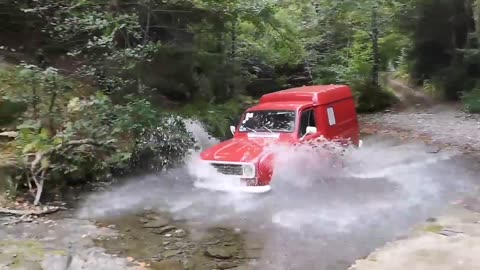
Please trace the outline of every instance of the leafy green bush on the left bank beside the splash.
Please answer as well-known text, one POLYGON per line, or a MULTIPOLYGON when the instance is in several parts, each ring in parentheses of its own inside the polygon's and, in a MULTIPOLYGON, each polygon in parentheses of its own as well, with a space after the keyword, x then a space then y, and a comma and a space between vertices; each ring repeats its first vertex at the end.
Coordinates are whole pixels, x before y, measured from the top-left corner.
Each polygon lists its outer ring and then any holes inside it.
POLYGON ((98 91, 73 95, 68 87, 78 82, 35 66, 4 76, 10 78, 4 98, 27 104, 8 145, 20 180, 36 190, 36 204, 45 184, 103 179, 140 165, 160 169, 182 161, 193 147, 181 118, 144 99, 126 97, 114 104, 98 91))

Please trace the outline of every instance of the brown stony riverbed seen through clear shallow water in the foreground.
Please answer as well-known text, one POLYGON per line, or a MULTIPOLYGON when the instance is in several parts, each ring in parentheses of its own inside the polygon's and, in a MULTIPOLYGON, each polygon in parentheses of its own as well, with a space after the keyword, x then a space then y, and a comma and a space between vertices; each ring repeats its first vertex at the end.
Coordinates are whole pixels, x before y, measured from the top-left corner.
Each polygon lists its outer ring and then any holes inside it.
POLYGON ((114 224, 119 235, 96 240, 98 246, 118 256, 147 262, 153 269, 170 269, 162 268, 166 262, 178 265, 173 269, 247 269, 261 251, 245 245, 243 234, 234 229, 201 230, 184 221, 173 221, 168 213, 146 212, 99 224, 114 224))

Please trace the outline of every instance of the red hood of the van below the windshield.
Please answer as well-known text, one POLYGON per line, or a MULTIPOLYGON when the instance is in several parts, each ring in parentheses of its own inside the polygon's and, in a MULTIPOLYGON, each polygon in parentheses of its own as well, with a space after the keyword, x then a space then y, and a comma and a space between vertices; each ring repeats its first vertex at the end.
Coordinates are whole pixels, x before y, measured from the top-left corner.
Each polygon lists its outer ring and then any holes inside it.
POLYGON ((278 140, 271 138, 230 139, 201 153, 208 161, 255 162, 264 150, 278 140))

